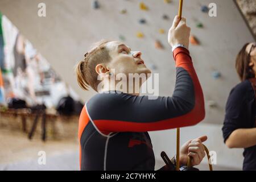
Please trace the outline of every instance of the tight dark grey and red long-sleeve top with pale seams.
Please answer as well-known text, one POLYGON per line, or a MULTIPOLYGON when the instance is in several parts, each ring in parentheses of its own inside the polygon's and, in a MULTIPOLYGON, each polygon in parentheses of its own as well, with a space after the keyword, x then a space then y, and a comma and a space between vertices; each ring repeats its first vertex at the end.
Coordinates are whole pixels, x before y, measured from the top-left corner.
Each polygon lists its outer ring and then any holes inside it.
POLYGON ((205 117, 204 96, 189 51, 176 48, 176 84, 172 97, 98 93, 79 119, 81 170, 154 170, 147 131, 196 125, 205 117))

